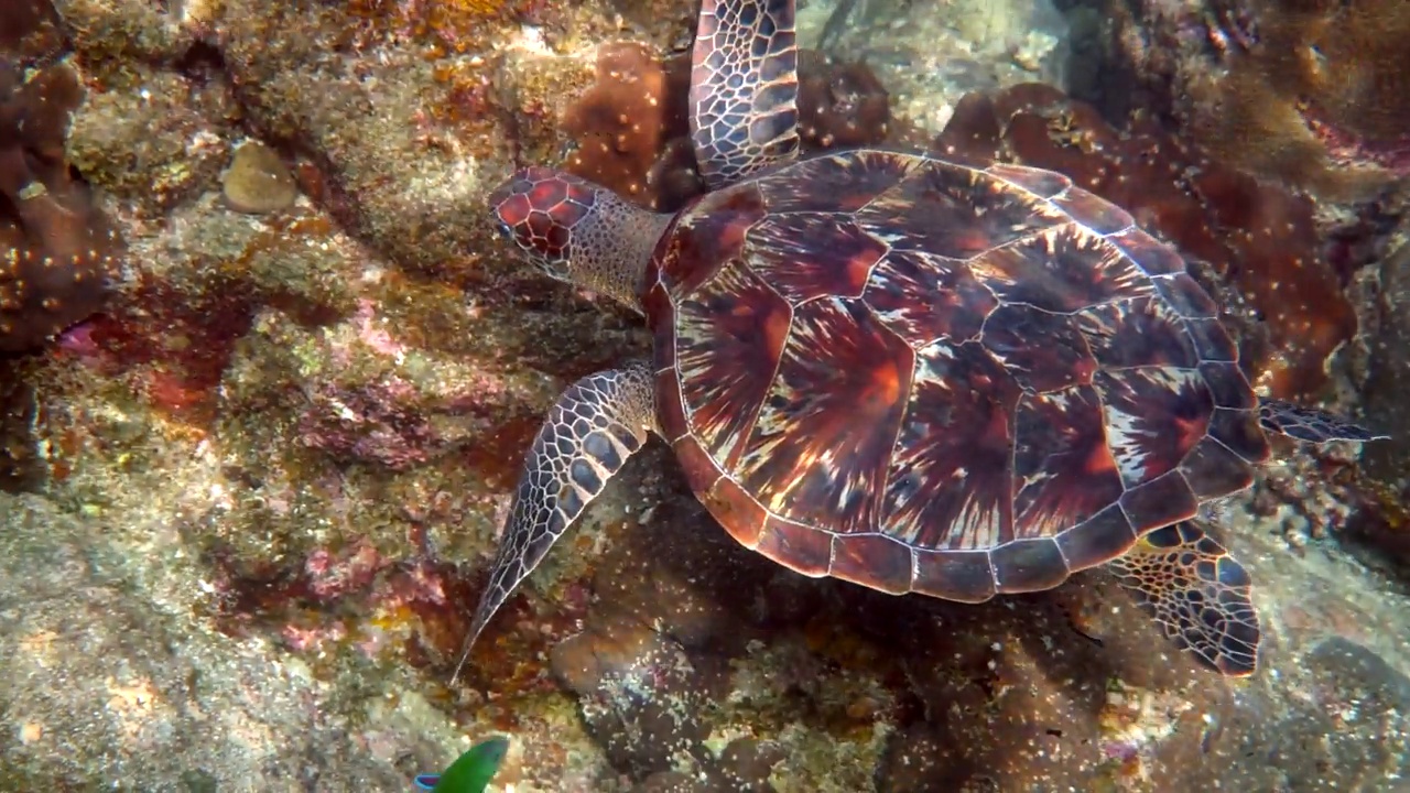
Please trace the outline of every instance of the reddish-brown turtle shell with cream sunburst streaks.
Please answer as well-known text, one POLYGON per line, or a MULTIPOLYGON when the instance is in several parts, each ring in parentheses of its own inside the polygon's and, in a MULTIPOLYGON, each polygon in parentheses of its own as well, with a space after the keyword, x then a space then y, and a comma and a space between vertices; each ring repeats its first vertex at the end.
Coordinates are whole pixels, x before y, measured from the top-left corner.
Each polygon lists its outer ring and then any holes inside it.
POLYGON ((643 305, 691 487, 808 576, 1050 588, 1269 456, 1180 255, 1048 171, 801 161, 687 207, 643 305))

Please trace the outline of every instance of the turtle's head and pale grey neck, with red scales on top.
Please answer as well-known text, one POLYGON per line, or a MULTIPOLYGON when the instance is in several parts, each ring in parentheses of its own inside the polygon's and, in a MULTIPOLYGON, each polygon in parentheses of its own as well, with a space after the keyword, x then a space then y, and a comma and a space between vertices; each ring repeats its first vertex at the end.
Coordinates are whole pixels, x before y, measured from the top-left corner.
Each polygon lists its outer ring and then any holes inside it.
POLYGON ((670 216, 550 168, 522 168, 489 196, 499 231, 544 274, 637 308, 670 216))

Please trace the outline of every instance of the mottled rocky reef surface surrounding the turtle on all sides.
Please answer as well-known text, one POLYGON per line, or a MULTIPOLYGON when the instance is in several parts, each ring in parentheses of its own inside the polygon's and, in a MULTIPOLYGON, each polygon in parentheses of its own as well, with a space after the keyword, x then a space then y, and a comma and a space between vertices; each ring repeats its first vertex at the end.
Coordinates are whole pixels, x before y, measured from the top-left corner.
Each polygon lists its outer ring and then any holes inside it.
POLYGON ((809 148, 1063 171, 1191 255, 1262 391, 1393 433, 1280 447, 1224 511, 1258 676, 1101 574, 960 605, 788 573, 657 444, 455 686, 539 418, 649 343, 517 264, 485 193, 560 155, 698 193, 695 6, 0 8, 0 262, 72 265, 0 271, 0 789, 402 790, 491 732, 519 792, 1410 786, 1404 6, 799 10, 833 55, 809 148))

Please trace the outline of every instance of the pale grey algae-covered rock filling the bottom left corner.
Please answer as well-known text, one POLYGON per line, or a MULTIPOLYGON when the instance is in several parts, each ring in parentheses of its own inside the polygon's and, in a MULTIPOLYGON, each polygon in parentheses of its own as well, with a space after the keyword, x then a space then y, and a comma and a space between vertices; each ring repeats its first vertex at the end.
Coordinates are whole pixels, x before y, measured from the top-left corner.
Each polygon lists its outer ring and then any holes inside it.
MULTIPOLYGON (((6 790, 391 790, 409 776, 378 744, 429 763, 431 741, 453 735, 416 694, 348 697, 272 645, 230 642, 172 611, 134 579, 135 549, 104 540, 102 516, 34 495, 0 495, 0 516, 6 790)), ((175 536, 148 549, 176 553, 175 536)), ((182 563, 168 576, 200 584, 182 563)))

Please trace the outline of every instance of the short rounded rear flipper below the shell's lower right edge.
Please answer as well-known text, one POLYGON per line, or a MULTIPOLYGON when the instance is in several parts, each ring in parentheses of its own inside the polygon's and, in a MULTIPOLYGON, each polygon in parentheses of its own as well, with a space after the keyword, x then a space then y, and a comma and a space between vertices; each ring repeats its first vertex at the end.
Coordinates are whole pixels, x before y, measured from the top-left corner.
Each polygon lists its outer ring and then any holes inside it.
POLYGON ((1222 674, 1258 667, 1258 611, 1244 566, 1200 521, 1156 529, 1107 564, 1165 635, 1222 674))

